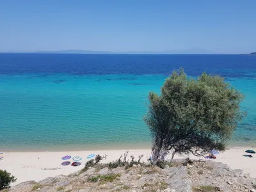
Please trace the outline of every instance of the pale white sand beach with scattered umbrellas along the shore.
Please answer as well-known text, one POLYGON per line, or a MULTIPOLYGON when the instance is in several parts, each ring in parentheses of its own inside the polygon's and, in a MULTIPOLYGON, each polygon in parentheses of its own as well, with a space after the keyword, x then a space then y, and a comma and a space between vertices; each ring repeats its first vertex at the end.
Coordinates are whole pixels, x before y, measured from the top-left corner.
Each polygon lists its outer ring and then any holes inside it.
MULTIPOLYGON (((217 159, 213 161, 220 161, 228 164, 233 169, 243 169, 244 173, 250 173, 252 177, 256 177, 256 156, 254 158, 244 157, 246 154, 244 151, 247 148, 231 148, 225 152, 216 155, 217 159)), ((256 148, 251 148, 256 150, 256 148)), ((55 177, 56 175, 68 175, 70 173, 81 170, 86 163, 86 157, 89 154, 108 154, 106 160, 102 162, 113 161, 118 159, 125 150, 99 150, 99 151, 69 151, 69 152, 4 152, 2 155, 3 160, 0 160, 0 169, 7 170, 17 177, 17 182, 12 185, 19 184, 26 180, 39 180, 47 177, 55 177), (63 156, 81 156, 83 159, 80 161, 81 166, 61 166, 63 156)), ((147 161, 150 157, 150 150, 129 150, 129 156, 131 154, 138 159, 140 154, 143 154, 143 161, 147 161)), ((253 155, 253 154, 252 154, 253 155)), ((175 158, 180 158, 175 156, 175 158)), ((198 157, 191 156, 192 159, 198 159, 198 157)))

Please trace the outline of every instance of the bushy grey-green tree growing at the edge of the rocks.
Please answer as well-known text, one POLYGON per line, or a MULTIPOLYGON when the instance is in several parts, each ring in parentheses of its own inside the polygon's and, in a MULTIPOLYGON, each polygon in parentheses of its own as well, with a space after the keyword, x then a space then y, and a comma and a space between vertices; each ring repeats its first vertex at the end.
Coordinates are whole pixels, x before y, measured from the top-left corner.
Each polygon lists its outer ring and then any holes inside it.
POLYGON ((191 79, 182 68, 166 79, 161 95, 150 92, 148 99, 145 122, 152 133, 153 161, 169 152, 201 156, 225 150, 245 115, 239 106, 244 95, 223 77, 203 73, 191 79))

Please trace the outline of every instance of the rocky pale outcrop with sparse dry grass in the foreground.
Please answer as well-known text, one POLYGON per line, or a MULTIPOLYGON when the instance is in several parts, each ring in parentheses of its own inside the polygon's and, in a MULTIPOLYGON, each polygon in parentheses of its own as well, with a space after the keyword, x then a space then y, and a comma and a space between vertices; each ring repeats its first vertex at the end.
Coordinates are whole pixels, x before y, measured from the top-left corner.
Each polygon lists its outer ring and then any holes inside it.
POLYGON ((40 182, 28 181, 13 186, 12 192, 96 192, 96 191, 256 191, 256 179, 232 170, 227 164, 194 161, 193 164, 157 166, 134 164, 130 168, 90 168, 68 176, 49 177, 40 182))

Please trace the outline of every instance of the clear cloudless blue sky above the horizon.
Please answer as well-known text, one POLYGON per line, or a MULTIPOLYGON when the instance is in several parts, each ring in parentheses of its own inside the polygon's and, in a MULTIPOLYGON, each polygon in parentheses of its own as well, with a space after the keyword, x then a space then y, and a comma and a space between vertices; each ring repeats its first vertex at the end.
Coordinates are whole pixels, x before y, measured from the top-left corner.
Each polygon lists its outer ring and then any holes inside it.
POLYGON ((0 51, 256 51, 256 1, 0 1, 0 51))

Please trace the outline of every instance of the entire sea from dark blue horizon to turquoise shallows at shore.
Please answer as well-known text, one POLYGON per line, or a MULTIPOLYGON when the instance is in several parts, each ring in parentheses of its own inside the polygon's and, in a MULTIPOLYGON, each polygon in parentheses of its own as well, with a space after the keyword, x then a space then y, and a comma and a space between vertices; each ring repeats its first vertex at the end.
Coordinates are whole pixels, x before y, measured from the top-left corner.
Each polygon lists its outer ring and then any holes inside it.
POLYGON ((180 67, 246 95, 230 143, 255 143, 256 56, 0 54, 0 151, 150 146, 148 92, 180 67))

